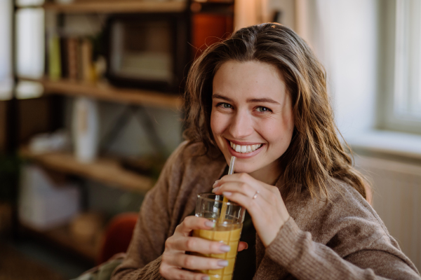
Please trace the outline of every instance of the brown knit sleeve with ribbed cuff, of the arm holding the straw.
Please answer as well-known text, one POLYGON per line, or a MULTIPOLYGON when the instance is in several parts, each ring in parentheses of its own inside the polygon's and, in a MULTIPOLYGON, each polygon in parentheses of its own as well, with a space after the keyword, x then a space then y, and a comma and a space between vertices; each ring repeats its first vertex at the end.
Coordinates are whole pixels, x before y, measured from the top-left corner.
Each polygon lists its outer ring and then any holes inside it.
POLYGON ((341 258, 332 248, 312 241, 312 235, 300 230, 293 218, 286 221, 266 248, 269 258, 300 280, 420 280, 413 264, 401 258, 403 253, 394 251, 386 238, 380 238, 368 248, 341 258))

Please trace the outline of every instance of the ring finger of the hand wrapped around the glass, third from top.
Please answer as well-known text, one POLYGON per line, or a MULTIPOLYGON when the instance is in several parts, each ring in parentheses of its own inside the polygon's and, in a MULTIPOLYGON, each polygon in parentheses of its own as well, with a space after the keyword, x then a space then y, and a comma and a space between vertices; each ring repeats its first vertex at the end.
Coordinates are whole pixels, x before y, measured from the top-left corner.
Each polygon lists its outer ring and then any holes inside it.
POLYGON ((186 269, 221 269, 228 266, 227 260, 218 258, 206 258, 199 255, 186 255, 184 253, 171 254, 168 256, 168 264, 186 269))

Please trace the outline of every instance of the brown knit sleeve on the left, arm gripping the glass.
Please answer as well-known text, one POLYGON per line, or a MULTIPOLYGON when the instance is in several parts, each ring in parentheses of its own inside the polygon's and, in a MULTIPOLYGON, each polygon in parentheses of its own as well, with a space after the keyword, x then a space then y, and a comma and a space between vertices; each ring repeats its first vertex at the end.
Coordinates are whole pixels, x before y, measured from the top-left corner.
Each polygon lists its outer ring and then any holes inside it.
POLYGON ((126 258, 114 270, 112 280, 163 279, 159 267, 171 224, 171 190, 180 186, 183 146, 168 158, 156 185, 145 196, 126 258))

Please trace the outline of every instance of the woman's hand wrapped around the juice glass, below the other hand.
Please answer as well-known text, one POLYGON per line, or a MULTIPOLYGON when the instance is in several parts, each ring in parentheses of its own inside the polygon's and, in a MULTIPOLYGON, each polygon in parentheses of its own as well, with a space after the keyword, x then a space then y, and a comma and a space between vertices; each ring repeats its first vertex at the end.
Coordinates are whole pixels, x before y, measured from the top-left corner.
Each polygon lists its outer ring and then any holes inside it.
MULTIPOLYGON (((161 259, 159 272, 163 278, 175 279, 209 279, 206 274, 189 272, 191 270, 221 269, 228 265, 227 260, 218 258, 205 258, 197 255, 187 255, 186 251, 208 254, 226 253, 231 248, 227 244, 218 241, 209 241, 199 237, 191 237, 193 230, 210 230, 215 227, 215 223, 207 218, 188 216, 180 225, 175 228, 174 235, 165 242, 165 251, 161 259)), ((247 247, 245 242, 240 242, 238 251, 247 247)))

